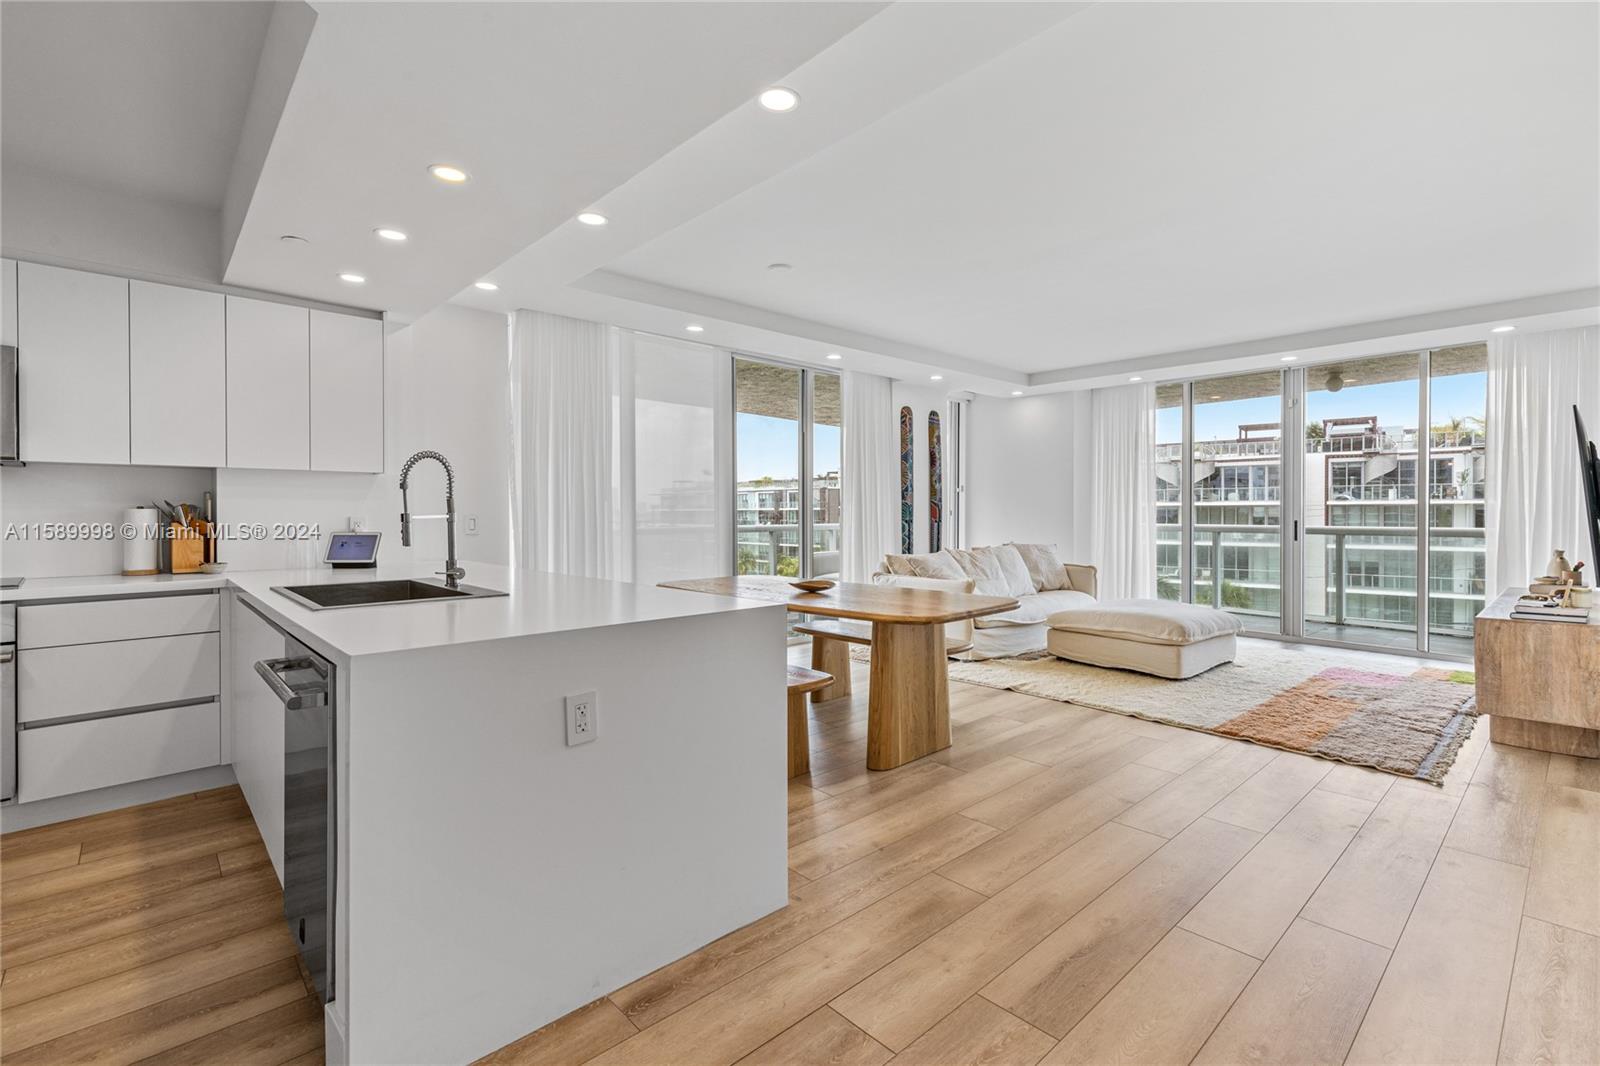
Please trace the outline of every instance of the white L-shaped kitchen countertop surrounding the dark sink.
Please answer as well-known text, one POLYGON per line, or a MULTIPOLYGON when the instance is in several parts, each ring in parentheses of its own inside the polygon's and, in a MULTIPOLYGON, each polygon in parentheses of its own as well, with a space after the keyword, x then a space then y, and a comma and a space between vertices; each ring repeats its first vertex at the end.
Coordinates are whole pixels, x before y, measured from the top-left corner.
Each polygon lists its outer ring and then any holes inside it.
POLYGON ((509 570, 483 563, 467 567, 464 584, 501 589, 507 595, 314 611, 272 591, 274 586, 402 578, 432 579, 434 573, 408 567, 378 567, 376 570, 318 567, 315 570, 240 570, 221 575, 157 575, 149 578, 29 578, 18 589, 5 589, 0 594, 0 602, 37 603, 232 587, 254 600, 275 623, 306 643, 344 659, 693 618, 696 615, 782 610, 782 605, 760 600, 680 592, 626 581, 509 570))

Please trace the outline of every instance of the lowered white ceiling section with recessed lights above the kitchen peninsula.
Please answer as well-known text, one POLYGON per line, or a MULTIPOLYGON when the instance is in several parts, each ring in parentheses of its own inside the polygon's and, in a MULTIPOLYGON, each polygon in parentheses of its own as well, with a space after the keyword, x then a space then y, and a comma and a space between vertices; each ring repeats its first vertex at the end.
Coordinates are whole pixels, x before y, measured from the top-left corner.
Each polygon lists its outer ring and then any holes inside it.
POLYGON ((226 280, 408 320, 574 226, 882 5, 314 6, 226 280), (472 179, 437 182, 438 162, 472 179), (379 226, 411 240, 386 245, 379 226))

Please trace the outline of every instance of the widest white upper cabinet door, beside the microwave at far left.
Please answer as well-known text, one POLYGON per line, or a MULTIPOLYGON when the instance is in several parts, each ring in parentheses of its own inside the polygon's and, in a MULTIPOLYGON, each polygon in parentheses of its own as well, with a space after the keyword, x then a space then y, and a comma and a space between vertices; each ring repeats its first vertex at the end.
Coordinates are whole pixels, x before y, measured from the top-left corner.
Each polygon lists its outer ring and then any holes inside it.
POLYGON ((18 264, 21 459, 128 463, 128 280, 18 264))

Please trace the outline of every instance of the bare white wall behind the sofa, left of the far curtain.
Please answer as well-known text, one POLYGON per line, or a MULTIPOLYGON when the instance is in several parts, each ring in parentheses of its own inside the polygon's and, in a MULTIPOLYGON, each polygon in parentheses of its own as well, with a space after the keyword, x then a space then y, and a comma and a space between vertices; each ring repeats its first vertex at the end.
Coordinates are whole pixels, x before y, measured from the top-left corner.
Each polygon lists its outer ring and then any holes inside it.
POLYGON ((966 539, 1054 544, 1062 562, 1088 562, 1090 394, 978 397, 966 431, 966 539))

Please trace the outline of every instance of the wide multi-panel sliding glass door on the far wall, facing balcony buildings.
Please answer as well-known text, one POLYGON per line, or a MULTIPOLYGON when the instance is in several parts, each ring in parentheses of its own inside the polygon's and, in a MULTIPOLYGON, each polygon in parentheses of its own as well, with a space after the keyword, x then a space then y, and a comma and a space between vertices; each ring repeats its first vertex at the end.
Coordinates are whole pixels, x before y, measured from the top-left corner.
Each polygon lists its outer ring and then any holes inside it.
POLYGON ((1157 595, 1261 635, 1472 655, 1483 344, 1157 389, 1157 595))

